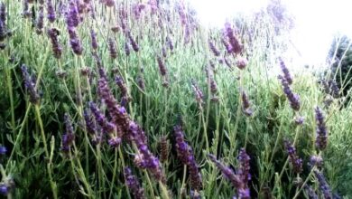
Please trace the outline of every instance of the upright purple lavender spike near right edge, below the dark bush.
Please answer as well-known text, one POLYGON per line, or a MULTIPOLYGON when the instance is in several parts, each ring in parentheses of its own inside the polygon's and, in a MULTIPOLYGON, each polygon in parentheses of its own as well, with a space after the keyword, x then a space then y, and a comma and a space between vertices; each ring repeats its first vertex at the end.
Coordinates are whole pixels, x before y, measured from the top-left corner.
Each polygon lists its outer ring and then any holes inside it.
POLYGON ((325 125, 324 115, 319 107, 315 109, 315 120, 317 121, 315 146, 319 150, 324 150, 328 145, 328 128, 325 125))

